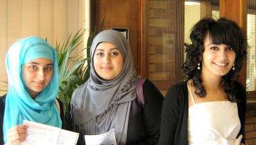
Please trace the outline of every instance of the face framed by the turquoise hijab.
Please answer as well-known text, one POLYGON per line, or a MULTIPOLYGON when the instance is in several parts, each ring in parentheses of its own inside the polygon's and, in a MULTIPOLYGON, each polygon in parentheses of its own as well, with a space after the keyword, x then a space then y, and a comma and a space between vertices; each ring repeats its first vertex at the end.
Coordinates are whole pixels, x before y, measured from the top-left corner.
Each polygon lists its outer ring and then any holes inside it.
POLYGON ((53 62, 48 58, 36 58, 22 66, 22 80, 33 99, 50 83, 53 62))

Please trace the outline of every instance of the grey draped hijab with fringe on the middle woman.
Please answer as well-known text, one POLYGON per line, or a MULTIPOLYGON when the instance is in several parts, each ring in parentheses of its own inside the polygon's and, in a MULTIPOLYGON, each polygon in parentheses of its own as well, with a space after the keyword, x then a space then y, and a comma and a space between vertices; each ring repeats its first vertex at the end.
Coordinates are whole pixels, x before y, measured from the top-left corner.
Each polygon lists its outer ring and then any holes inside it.
POLYGON ((75 131, 102 134, 115 130, 117 144, 126 144, 129 110, 135 100, 137 73, 134 69, 129 43, 121 33, 102 31, 92 41, 90 78, 73 93, 71 111, 75 131), (113 80, 104 80, 95 72, 93 56, 99 43, 112 43, 124 58, 121 73, 113 80))

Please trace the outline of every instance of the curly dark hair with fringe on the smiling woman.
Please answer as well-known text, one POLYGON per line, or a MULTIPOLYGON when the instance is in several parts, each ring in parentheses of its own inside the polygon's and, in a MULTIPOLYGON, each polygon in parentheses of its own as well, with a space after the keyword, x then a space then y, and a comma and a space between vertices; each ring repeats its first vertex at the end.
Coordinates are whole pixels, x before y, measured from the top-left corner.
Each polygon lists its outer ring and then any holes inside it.
POLYGON ((235 50, 235 70, 230 70, 228 74, 221 79, 225 94, 231 102, 237 101, 235 98, 235 82, 232 81, 235 73, 242 68, 242 61, 246 59, 247 54, 247 38, 242 32, 242 29, 234 21, 228 18, 220 18, 215 21, 213 18, 203 18, 193 26, 191 31, 191 44, 186 46, 186 60, 183 63, 182 69, 184 71, 185 80, 193 79, 193 85, 196 87, 196 95, 198 97, 205 97, 206 88, 202 85, 201 70, 198 70, 198 63, 201 63, 203 57, 204 40, 209 34, 213 43, 229 45, 235 50))

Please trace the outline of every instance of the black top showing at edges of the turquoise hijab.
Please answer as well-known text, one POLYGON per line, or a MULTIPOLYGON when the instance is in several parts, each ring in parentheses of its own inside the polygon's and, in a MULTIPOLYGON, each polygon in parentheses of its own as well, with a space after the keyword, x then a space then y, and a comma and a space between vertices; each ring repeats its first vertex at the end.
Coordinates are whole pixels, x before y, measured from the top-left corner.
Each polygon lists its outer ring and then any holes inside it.
MULTIPOLYGON (((4 133, 3 133, 3 124, 4 124, 4 108, 5 108, 5 99, 6 95, 0 97, 0 145, 4 144, 4 133)), ((63 121, 64 117, 64 109, 63 102, 61 102, 58 98, 58 103, 60 104, 60 119, 63 121)))

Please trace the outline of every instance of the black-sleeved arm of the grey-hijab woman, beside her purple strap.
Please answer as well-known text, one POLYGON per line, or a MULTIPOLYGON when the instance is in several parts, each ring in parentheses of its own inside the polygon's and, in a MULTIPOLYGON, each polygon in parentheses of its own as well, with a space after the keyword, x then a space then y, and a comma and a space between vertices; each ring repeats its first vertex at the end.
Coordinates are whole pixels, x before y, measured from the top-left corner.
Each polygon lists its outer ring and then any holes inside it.
POLYGON ((146 139, 137 144, 157 144, 160 136, 161 107, 164 97, 149 80, 145 80, 142 87, 145 100, 142 107, 142 119, 146 139))

